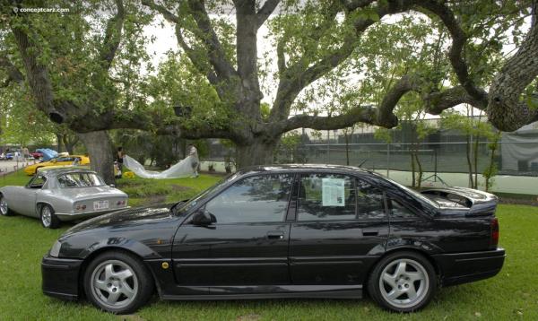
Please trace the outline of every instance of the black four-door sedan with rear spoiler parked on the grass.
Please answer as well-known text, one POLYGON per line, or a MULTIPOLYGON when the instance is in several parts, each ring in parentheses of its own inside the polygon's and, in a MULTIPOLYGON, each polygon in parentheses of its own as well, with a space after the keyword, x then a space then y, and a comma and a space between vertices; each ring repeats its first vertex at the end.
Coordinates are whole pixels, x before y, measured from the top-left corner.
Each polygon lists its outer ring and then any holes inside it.
POLYGON ((363 169, 243 169, 195 198, 82 222, 42 261, 43 291, 130 313, 162 299, 361 298, 409 312, 499 273, 497 198, 419 194, 363 169))

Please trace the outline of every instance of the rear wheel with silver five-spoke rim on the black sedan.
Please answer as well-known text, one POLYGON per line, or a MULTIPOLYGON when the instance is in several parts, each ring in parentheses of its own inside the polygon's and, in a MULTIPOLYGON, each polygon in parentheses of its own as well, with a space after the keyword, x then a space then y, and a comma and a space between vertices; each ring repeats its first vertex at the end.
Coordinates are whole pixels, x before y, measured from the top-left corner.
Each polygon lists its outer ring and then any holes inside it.
POLYGON ((437 276, 430 261, 411 251, 383 257, 368 281, 369 296, 379 306, 404 313, 428 305, 437 287, 437 276))

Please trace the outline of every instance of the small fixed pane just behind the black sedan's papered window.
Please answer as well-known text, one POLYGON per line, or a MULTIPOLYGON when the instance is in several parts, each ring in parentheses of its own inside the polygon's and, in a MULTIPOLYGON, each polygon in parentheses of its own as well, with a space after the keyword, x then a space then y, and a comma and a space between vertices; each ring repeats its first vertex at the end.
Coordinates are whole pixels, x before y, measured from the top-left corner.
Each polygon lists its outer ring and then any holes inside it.
POLYGON ((386 218, 383 192, 359 178, 357 179, 357 218, 360 220, 386 218))

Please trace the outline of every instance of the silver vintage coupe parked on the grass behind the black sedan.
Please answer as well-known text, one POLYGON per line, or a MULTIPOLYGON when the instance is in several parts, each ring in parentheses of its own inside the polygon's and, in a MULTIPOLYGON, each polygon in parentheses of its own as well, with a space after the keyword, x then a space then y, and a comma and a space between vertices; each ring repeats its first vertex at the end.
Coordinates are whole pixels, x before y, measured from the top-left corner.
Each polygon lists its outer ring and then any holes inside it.
POLYGON ((42 169, 24 187, 0 188, 0 214, 36 217, 43 227, 125 209, 128 196, 88 169, 42 169))

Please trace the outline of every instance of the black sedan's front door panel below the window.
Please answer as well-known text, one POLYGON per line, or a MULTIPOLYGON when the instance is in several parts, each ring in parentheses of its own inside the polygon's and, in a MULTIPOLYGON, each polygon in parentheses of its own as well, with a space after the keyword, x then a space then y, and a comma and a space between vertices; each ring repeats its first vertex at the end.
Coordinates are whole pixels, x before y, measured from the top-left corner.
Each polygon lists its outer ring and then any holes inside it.
POLYGON ((289 284, 290 224, 182 225, 174 238, 178 285, 289 284), (274 236, 278 236, 274 238, 274 236))

